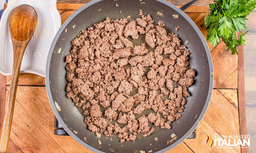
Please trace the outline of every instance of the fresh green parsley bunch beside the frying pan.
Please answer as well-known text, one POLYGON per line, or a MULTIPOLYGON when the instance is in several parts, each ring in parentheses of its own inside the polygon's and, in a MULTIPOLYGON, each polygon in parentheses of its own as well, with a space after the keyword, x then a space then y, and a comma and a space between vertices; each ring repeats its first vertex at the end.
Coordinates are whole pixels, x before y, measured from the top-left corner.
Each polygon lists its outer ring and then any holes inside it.
POLYGON ((209 4, 211 12, 205 21, 209 30, 207 40, 216 46, 222 38, 227 51, 231 49, 232 55, 238 54, 237 46, 245 45, 244 35, 248 32, 241 34, 240 31, 247 29, 245 20, 255 5, 255 0, 214 0, 214 4, 209 4), (239 39, 236 32, 240 33, 239 39))

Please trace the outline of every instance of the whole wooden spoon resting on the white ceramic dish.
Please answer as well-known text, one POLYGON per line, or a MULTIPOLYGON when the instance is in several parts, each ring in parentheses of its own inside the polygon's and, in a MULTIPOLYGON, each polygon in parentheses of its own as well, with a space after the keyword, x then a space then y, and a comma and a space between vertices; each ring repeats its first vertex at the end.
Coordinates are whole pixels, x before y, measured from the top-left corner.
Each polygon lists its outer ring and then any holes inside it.
POLYGON ((21 61, 26 47, 36 30, 36 25, 36 10, 29 5, 19 5, 12 11, 10 15, 9 28, 12 38, 14 60, 9 97, 5 110, 4 123, 2 126, 0 141, 1 153, 7 152, 21 61))

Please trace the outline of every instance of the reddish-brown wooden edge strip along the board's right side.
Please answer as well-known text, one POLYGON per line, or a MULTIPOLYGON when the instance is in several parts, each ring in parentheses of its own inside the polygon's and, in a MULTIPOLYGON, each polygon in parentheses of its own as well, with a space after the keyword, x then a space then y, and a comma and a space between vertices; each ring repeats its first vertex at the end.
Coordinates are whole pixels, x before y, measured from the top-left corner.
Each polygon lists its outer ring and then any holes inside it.
MULTIPOLYGON (((238 34, 238 38, 240 34, 238 34)), ((246 129, 246 114, 245 114, 245 91, 244 91, 244 46, 237 47, 238 52, 238 111, 239 111, 239 125, 240 135, 247 135, 246 129)), ((248 146, 241 147, 241 153, 248 153, 248 146)))

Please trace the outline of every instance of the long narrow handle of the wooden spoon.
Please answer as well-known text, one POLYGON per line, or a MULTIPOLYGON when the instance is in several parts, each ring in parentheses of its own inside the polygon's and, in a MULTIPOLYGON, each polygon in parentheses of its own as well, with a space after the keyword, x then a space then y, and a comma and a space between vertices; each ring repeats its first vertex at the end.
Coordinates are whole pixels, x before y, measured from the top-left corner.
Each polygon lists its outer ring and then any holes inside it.
MULTIPOLYGON (((24 49, 24 48, 18 47, 16 49, 24 49)), ((26 47, 25 47, 25 49, 26 49, 26 47)), ((23 54, 14 56, 13 68, 12 68, 12 80, 11 80, 10 89, 9 89, 8 102, 7 102, 7 106, 5 109, 4 122, 2 125, 2 134, 1 134, 1 140, 0 140, 0 152, 1 153, 7 152, 7 147, 8 147, 8 143, 9 143, 14 103, 15 103, 15 97, 16 97, 16 91, 17 91, 17 85, 18 85, 18 79, 19 79, 19 71, 20 71, 20 66, 21 66, 21 61, 22 61, 22 60, 18 60, 18 58, 22 59, 22 57, 23 57, 23 54)))

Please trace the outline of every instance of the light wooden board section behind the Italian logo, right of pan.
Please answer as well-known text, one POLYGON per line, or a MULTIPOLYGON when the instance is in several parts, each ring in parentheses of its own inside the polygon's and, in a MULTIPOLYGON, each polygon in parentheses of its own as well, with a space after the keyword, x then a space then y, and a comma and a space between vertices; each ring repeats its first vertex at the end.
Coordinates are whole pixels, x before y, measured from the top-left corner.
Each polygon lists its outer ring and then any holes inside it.
POLYGON ((184 141, 194 152, 241 152, 240 148, 210 148, 206 144, 207 136, 210 134, 240 134, 238 110, 227 100, 234 100, 236 101, 234 103, 237 104, 237 95, 235 95, 237 91, 231 89, 220 89, 219 91, 213 90, 207 112, 197 127, 196 139, 184 141))

